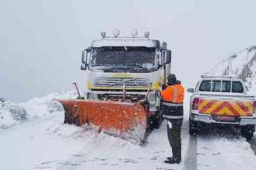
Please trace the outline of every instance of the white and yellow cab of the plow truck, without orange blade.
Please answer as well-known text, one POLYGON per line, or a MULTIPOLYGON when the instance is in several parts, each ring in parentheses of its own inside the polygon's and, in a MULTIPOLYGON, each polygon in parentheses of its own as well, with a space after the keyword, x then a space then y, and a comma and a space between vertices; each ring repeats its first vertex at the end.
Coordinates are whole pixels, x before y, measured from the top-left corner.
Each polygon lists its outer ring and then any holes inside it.
POLYGON ((161 119, 160 101, 155 92, 159 82, 166 83, 171 72, 171 51, 166 42, 149 39, 149 32, 138 37, 132 30, 131 37, 119 37, 119 30, 112 37, 101 33, 102 39, 93 40, 82 51, 81 69, 86 70, 85 98, 139 101, 149 94, 149 115, 161 119))

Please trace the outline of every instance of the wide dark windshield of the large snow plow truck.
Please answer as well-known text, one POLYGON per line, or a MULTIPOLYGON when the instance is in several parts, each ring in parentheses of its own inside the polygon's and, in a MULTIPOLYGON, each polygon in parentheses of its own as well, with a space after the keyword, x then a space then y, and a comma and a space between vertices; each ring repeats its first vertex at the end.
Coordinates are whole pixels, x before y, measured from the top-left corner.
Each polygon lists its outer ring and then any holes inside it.
POLYGON ((92 49, 90 69, 103 72, 154 72, 154 47, 97 47, 92 49))

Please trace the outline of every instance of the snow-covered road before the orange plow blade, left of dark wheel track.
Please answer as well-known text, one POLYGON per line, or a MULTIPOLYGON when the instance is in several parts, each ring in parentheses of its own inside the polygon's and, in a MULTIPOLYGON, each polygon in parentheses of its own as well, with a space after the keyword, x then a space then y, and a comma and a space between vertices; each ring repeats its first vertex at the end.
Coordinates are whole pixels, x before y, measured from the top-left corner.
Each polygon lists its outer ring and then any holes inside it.
MULTIPOLYGON (((166 125, 154 130, 145 147, 73 125, 63 125, 58 113, 48 118, 1 130, 1 166, 6 169, 169 169, 171 156, 166 125)), ((182 155, 188 146, 187 123, 182 133, 182 155)), ((172 167, 183 169, 183 163, 172 167)))

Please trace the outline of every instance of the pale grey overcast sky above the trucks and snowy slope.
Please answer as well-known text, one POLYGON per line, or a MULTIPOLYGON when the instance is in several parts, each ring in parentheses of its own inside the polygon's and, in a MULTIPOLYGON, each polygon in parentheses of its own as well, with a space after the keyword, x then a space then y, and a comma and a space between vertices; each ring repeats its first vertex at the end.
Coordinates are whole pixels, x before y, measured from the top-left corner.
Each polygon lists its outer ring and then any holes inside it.
POLYGON ((149 30, 173 52, 172 72, 194 84, 202 72, 256 44, 256 1, 0 1, 0 96, 27 101, 73 89, 81 50, 119 28, 149 30))

